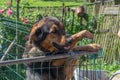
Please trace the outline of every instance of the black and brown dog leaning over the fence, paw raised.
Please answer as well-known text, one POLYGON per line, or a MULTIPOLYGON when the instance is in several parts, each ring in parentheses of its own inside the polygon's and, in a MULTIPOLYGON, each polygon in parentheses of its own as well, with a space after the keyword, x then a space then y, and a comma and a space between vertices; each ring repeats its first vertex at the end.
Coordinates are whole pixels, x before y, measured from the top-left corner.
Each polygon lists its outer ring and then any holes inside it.
MULTIPOLYGON (((29 40, 23 58, 36 56, 49 56, 67 53, 74 49, 77 42, 82 38, 93 38, 93 34, 83 30, 71 37, 65 32, 63 23, 55 17, 46 17, 36 22, 30 32, 29 40)), ((98 45, 79 47, 82 50, 99 50, 98 45)), ((74 66, 69 65, 68 59, 58 59, 44 62, 32 62, 27 64, 27 80, 71 80, 74 66)), ((70 63, 71 64, 71 63, 70 63)), ((77 60, 72 61, 73 65, 77 60)))

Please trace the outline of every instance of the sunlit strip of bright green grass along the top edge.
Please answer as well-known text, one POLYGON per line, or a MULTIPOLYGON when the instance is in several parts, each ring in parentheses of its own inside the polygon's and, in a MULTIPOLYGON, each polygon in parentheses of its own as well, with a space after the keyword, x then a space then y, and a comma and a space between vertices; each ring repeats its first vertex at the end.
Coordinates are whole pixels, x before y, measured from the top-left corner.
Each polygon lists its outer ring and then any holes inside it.
MULTIPOLYGON (((0 0, 0 9, 4 7, 6 2, 9 0, 0 0)), ((16 1, 16 0, 15 0, 16 1)), ((13 0, 13 6, 16 6, 16 2, 13 0)), ((65 2, 65 1, 40 1, 40 0, 21 0, 20 6, 23 4, 29 4, 29 6, 40 6, 40 7, 55 7, 55 6, 62 6, 62 4, 65 4, 65 6, 80 6, 83 4, 83 2, 65 2)))

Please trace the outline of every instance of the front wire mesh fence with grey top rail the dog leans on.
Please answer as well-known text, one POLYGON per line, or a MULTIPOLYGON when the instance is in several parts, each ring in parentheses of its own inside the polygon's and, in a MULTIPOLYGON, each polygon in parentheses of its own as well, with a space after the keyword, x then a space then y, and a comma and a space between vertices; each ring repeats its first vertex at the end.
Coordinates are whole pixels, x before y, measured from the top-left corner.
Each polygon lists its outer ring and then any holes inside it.
POLYGON ((73 80, 85 80, 85 79, 102 80, 102 78, 105 76, 105 75, 103 77, 101 76, 101 73, 103 73, 103 71, 101 71, 103 53, 102 52, 98 52, 98 54, 95 53, 97 52, 79 52, 79 54, 78 52, 76 52, 74 53, 74 55, 72 53, 72 55, 67 54, 61 56, 58 55, 58 56, 48 56, 42 58, 37 57, 32 59, 17 59, 17 60, 3 61, 0 63, 1 66, 0 73, 2 75, 0 79, 1 80, 39 80, 40 78, 43 80, 44 79, 53 80, 52 77, 55 76, 56 77, 55 80, 59 80, 61 79, 61 77, 59 76, 62 69, 66 69, 65 67, 68 67, 68 70, 71 70, 70 69, 71 67, 76 67, 74 71, 73 80), (87 54, 89 54, 90 56, 87 54), (78 55, 80 57, 78 57, 78 55), (62 66, 51 65, 52 61, 60 58, 66 58, 66 62, 70 60, 69 65, 62 65, 62 66), (72 61, 76 58, 78 59, 78 64, 74 65, 72 61), (27 68, 25 67, 25 65, 27 65, 27 68), (45 74, 45 72, 47 73, 45 74))

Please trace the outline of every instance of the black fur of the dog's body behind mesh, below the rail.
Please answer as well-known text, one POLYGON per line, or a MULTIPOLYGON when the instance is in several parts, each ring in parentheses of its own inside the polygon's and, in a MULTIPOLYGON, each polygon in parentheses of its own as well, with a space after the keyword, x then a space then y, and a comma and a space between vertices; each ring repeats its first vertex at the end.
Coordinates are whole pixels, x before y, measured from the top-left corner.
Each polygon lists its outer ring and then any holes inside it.
MULTIPOLYGON (((35 62, 30 63, 27 65, 31 74, 37 73, 39 76, 49 76, 45 80, 60 80, 58 79, 60 74, 62 75, 64 72, 64 65, 63 66, 52 66, 52 62, 35 62)), ((36 77, 36 76, 34 76, 36 77)), ((65 77, 65 76, 62 76, 65 77)), ((62 78, 61 78, 62 79, 62 78)), ((33 79, 31 79, 33 80, 33 79)), ((39 80, 44 80, 40 78, 39 80)))

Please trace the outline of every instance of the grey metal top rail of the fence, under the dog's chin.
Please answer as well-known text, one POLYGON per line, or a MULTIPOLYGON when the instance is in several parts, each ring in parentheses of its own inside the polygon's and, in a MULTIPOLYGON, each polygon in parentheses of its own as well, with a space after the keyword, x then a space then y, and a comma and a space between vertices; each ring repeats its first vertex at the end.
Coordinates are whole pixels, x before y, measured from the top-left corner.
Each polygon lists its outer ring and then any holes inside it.
POLYGON ((74 59, 82 55, 97 54, 97 53, 98 52, 75 51, 75 52, 69 52, 67 54, 60 54, 60 55, 40 56, 40 57, 33 57, 33 58, 0 61, 0 67, 14 65, 14 64, 30 63, 30 62, 42 62, 42 61, 48 61, 52 59, 61 59, 61 58, 73 58, 74 59))

